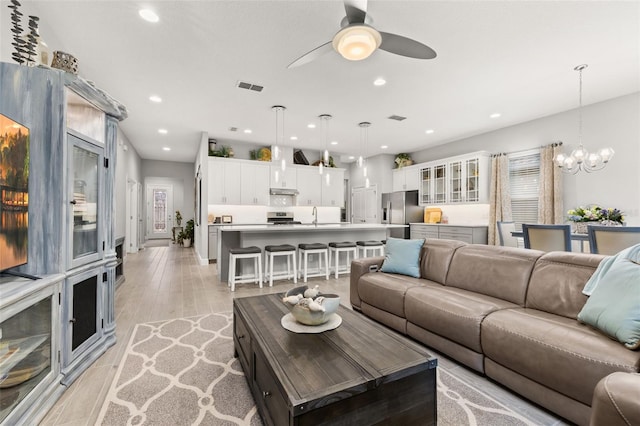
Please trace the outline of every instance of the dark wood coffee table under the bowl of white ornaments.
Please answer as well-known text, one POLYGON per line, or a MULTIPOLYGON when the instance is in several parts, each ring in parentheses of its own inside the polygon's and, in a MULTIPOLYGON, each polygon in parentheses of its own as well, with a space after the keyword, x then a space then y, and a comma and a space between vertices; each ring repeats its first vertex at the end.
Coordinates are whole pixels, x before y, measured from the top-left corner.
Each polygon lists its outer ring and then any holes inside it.
POLYGON ((343 306, 342 325, 285 330, 281 295, 234 299, 236 356, 267 425, 435 425, 437 360, 343 306))

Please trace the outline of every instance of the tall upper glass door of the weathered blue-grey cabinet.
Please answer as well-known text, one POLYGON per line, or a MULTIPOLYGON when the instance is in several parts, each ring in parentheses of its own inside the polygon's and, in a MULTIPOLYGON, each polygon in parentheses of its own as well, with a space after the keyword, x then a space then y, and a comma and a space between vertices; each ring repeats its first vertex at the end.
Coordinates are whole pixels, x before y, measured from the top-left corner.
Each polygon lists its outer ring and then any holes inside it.
POLYGON ((68 179, 71 266, 99 259, 102 253, 102 148, 69 134, 68 179))

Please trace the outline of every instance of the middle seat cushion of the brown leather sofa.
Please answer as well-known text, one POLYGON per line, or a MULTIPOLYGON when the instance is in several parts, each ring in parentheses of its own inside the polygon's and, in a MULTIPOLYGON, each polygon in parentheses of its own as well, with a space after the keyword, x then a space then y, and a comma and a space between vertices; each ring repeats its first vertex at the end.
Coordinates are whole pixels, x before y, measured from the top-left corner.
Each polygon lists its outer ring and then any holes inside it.
POLYGON ((516 304, 460 288, 431 285, 407 291, 407 320, 481 353, 480 324, 491 312, 516 304))

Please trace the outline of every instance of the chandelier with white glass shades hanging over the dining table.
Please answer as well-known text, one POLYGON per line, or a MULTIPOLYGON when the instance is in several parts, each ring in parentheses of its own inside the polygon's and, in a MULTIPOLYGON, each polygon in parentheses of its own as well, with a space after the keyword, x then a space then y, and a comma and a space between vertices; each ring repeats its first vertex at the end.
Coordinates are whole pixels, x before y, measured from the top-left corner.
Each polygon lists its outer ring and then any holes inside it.
POLYGON ((609 160, 613 157, 614 151, 611 148, 602 148, 597 153, 588 152, 582 146, 582 71, 587 68, 587 64, 578 65, 574 68, 580 73, 580 94, 578 108, 578 149, 571 152, 571 155, 558 154, 554 162, 565 173, 576 174, 580 170, 591 173, 605 168, 609 160))

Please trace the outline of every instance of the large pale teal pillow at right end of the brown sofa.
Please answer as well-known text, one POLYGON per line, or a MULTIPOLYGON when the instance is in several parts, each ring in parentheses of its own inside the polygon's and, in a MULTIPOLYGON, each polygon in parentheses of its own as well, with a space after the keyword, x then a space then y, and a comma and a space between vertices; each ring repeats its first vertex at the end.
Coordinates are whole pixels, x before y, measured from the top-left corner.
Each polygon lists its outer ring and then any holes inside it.
POLYGON ((640 244, 600 262, 583 293, 590 296, 579 321, 629 349, 640 348, 640 244))

